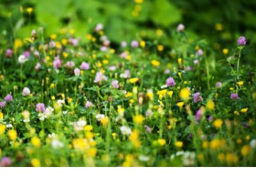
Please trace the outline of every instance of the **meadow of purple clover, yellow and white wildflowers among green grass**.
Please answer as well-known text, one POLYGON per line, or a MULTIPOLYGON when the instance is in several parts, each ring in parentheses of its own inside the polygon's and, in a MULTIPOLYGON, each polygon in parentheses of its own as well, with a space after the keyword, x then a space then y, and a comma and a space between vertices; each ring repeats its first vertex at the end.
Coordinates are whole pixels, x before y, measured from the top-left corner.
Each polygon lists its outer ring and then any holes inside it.
POLYGON ((0 166, 256 166, 253 40, 105 27, 1 39, 0 166))

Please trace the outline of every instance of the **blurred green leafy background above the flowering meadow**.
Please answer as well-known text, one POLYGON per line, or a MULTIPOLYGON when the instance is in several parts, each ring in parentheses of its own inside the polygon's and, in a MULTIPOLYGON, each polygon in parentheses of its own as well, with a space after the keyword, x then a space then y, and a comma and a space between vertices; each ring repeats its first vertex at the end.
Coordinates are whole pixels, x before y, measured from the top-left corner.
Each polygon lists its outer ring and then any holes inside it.
POLYGON ((216 49, 234 46, 242 35, 255 47, 255 10, 255 0, 1 0, 0 38, 26 38, 31 29, 42 26, 47 34, 74 29, 86 41, 100 22, 116 43, 139 37, 155 40, 156 32, 163 31, 163 43, 168 44, 166 36, 182 23, 191 39, 205 38, 216 49))

